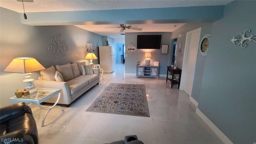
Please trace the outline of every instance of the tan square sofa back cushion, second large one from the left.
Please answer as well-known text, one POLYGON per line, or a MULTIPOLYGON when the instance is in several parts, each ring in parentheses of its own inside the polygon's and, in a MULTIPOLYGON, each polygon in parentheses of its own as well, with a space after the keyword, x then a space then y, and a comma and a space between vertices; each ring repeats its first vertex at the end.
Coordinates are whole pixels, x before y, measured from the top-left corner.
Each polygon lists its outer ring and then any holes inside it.
POLYGON ((63 76, 64 82, 74 78, 70 63, 64 64, 61 66, 56 65, 56 70, 58 70, 61 73, 61 75, 63 76))

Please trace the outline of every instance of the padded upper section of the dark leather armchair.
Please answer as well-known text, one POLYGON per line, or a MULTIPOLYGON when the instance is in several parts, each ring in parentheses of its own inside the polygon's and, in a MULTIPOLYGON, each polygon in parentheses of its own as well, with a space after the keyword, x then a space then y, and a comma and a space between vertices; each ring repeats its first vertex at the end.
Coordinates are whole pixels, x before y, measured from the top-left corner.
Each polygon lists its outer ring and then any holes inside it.
POLYGON ((27 106, 24 102, 5 106, 0 109, 0 121, 4 122, 16 116, 24 114, 25 112, 32 114, 30 107, 27 106))

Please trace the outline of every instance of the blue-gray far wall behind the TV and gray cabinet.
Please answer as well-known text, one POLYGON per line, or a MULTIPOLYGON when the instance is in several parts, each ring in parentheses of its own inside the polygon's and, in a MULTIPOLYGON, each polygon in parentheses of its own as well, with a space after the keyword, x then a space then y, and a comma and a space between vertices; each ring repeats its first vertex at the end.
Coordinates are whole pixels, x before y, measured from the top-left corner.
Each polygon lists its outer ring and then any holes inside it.
POLYGON ((134 32, 134 33, 126 33, 125 34, 125 43, 126 43, 126 60, 125 60, 125 73, 128 74, 136 74, 136 64, 137 62, 141 62, 141 64, 145 64, 145 52, 151 52, 152 58, 150 60, 150 65, 154 65, 154 61, 159 62, 159 74, 166 75, 166 66, 169 63, 169 57, 172 56, 172 48, 170 48, 171 42, 171 32, 134 32), (168 44, 168 54, 161 54, 160 49, 136 49, 136 52, 130 54, 127 51, 127 47, 131 44, 131 42, 137 48, 137 35, 162 35, 161 45, 168 44))

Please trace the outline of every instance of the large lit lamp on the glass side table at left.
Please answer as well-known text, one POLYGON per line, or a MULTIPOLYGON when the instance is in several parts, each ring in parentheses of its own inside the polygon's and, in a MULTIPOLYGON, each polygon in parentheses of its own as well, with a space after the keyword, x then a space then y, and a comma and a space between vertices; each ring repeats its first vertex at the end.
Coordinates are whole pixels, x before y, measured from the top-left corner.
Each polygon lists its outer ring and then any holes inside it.
POLYGON ((36 72, 39 70, 44 70, 44 66, 42 66, 35 58, 14 58, 12 62, 6 67, 4 72, 15 72, 15 73, 22 73, 25 75, 26 82, 26 90, 31 93, 36 92, 34 86, 32 86, 32 82, 34 79, 30 78, 31 72, 36 72))

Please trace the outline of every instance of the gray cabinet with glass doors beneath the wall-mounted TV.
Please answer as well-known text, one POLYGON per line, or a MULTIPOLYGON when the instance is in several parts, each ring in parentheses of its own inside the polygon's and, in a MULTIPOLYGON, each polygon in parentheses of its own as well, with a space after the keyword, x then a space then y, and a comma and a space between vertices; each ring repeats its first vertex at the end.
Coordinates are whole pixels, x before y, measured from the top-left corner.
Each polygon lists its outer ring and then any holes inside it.
POLYGON ((153 77, 158 78, 159 66, 136 65, 136 78, 153 77))

